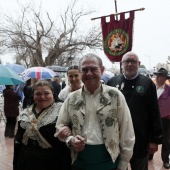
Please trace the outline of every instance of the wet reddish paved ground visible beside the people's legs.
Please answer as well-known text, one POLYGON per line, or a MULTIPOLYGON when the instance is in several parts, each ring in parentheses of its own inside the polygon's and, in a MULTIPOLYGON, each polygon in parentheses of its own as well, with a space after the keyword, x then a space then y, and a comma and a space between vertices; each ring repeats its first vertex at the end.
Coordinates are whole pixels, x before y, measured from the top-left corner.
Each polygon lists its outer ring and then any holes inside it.
MULTIPOLYGON (((2 120, 0 123, 0 170, 12 170, 14 139, 4 137, 4 127, 5 125, 2 120)), ((162 167, 160 149, 161 146, 159 147, 159 151, 154 155, 153 161, 149 161, 149 170, 165 170, 162 167)))

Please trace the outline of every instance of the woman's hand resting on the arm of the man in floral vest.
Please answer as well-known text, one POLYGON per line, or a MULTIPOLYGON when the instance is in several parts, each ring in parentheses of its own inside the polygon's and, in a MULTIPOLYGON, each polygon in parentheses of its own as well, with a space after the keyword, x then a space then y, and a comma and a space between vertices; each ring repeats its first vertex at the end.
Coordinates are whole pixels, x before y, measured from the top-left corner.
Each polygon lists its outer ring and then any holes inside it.
POLYGON ((67 126, 60 128, 59 131, 54 134, 54 136, 58 137, 58 139, 61 141, 65 141, 65 139, 70 135, 71 135, 71 130, 67 126))

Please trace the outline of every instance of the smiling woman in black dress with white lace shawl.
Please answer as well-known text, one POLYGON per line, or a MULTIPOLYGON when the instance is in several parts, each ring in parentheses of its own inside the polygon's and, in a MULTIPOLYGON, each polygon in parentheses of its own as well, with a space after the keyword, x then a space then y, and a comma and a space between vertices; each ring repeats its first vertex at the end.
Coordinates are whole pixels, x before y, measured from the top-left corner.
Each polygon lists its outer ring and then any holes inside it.
POLYGON ((54 137, 62 103, 54 102, 54 90, 47 81, 33 87, 34 104, 19 116, 14 141, 14 170, 70 170, 70 150, 54 137))

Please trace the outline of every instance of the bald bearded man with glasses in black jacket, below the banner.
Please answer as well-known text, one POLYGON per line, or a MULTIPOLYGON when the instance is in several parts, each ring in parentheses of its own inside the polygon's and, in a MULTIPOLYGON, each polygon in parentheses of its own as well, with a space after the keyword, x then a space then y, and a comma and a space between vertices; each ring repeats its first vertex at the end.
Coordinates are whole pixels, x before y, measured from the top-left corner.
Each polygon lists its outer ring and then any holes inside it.
POLYGON ((156 152, 162 143, 156 87, 150 78, 138 73, 140 61, 134 52, 124 54, 121 64, 123 73, 107 84, 122 91, 131 112, 136 136, 131 169, 148 170, 148 154, 156 152))

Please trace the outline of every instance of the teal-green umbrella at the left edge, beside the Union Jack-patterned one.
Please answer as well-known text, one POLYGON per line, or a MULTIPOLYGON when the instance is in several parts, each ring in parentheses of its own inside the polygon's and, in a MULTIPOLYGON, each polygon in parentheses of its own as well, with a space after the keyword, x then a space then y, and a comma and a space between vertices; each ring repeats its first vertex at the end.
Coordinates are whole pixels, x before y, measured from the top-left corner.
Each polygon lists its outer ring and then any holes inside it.
POLYGON ((18 85, 25 83, 12 69, 0 64, 0 85, 18 85))

